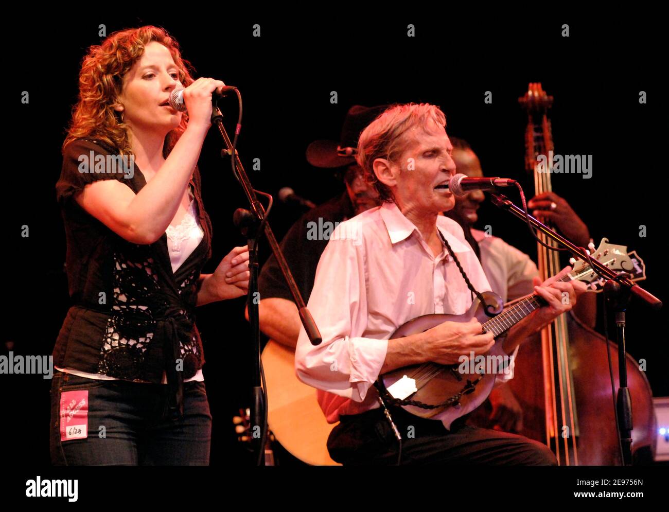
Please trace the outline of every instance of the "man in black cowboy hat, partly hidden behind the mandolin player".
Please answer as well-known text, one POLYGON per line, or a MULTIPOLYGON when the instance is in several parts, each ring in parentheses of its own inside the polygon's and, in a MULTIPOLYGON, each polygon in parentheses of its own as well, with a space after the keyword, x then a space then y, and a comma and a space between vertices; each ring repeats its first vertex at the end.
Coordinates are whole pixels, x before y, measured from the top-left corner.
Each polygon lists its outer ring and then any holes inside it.
MULTIPOLYGON (((311 165, 332 169, 343 175, 346 191, 306 212, 293 224, 281 242, 281 250, 305 303, 314 286, 320 254, 325 250, 328 235, 332 232, 332 229, 326 229, 320 233, 322 236, 314 237, 314 228, 336 226, 335 223, 380 204, 374 187, 363 178, 362 169, 355 160, 355 152, 360 133, 386 108, 387 105, 352 106, 344 120, 339 142, 314 141, 306 149, 306 159, 311 165)), ((260 329, 279 343, 295 347, 302 323, 274 255, 270 256, 260 272, 258 290, 260 329)), ((248 313, 246 316, 248 319, 248 313)))

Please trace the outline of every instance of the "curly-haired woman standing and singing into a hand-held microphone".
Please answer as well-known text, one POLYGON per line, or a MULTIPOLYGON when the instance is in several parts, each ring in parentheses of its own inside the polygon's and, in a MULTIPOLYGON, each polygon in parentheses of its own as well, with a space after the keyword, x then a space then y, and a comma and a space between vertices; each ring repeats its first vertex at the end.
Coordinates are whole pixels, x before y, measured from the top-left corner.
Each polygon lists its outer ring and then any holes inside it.
POLYGON ((197 159, 220 80, 193 81, 163 29, 92 46, 56 192, 72 307, 56 347, 54 464, 208 464, 196 306, 248 290, 248 251, 213 274, 197 159), (185 88, 188 114, 167 100, 185 88))

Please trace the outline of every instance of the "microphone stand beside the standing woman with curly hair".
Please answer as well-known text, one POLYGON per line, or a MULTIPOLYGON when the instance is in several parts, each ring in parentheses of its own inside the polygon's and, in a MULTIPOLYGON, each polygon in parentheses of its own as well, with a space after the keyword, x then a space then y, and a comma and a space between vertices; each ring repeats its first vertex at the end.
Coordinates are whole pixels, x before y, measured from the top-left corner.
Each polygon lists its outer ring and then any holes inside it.
MULTIPOLYGON (((241 103, 242 97, 240 96, 239 91, 235 90, 235 92, 237 92, 237 97, 240 99, 241 103)), ((250 274, 248 312, 252 329, 252 344, 254 346, 253 406, 250 414, 250 422, 252 430, 254 430, 257 426, 262 426, 260 440, 258 442, 254 442, 254 452, 257 456, 258 465, 264 466, 265 459, 263 455, 265 451, 265 443, 267 440, 267 404, 264 400, 263 388, 261 386, 261 374, 262 382, 264 382, 264 373, 262 373, 262 361, 260 359, 260 323, 258 321, 258 303, 260 302, 260 295, 258 293, 257 251, 258 237, 262 236, 263 233, 270 244, 270 248, 276 257, 276 261, 281 268, 282 274, 284 274, 286 284, 288 284, 290 293, 292 294, 293 300, 295 301, 295 304, 297 305, 298 311, 300 313, 300 320, 302 321, 304 330, 306 331, 306 334, 308 335, 312 345, 319 345, 322 341, 322 338, 320 337, 320 332, 318 331, 318 327, 316 327, 316 323, 314 323, 314 319, 312 318, 311 313, 309 313, 309 310, 306 308, 304 298, 302 298, 302 294, 300 294, 300 290, 298 290, 297 284, 295 283, 292 273, 290 272, 290 268, 288 268, 288 264, 286 263, 286 258, 284 258, 284 254, 282 253, 279 244, 274 237, 272 228, 270 228, 270 224, 268 224, 265 218, 265 209, 260 201, 258 201, 256 190, 251 185, 248 174, 244 170, 244 165, 242 165, 242 161, 240 161, 240 157, 236 149, 234 150, 233 155, 233 145, 227 136, 225 128, 223 127, 223 114, 221 114, 217 104, 218 98, 214 98, 212 100, 213 111, 211 114, 211 123, 216 125, 219 133, 221 134, 221 137, 223 138, 223 143, 225 143, 225 149, 221 150, 221 157, 227 155, 234 159, 234 165, 237 171, 237 181, 239 181, 240 185, 242 185, 242 189, 244 189, 244 193, 246 193, 246 198, 250 204, 250 210, 237 209, 237 211, 235 211, 234 222, 235 226, 242 230, 242 235, 246 236, 248 239, 250 274), (260 232, 260 230, 262 230, 262 232, 260 232)), ((239 132, 240 128, 241 126, 237 125, 237 133, 239 132)), ((257 439, 257 437, 254 435, 252 435, 252 438, 257 439)))

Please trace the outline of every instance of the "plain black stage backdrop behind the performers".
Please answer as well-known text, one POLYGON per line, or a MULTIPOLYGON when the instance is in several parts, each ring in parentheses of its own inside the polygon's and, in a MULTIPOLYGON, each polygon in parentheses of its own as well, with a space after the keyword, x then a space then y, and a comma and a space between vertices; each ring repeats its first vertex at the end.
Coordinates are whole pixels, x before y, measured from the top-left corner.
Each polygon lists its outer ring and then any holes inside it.
MULTIPOLYGON (((605 236, 636 249, 647 267, 642 285, 666 298, 666 82, 658 77, 658 67, 666 66, 660 58, 664 27, 650 14, 634 19, 614 5, 587 16, 407 11, 379 17, 333 7, 318 14, 260 9, 249 14, 228 8, 193 19, 109 13, 68 21, 7 19, 5 83, 10 75, 13 79, 11 114, 5 118, 10 131, 5 197, 11 207, 5 210, 9 286, 3 341, 13 341, 17 354, 50 354, 69 307, 54 185, 79 66, 88 46, 100 43, 100 23, 107 35, 161 25, 181 44, 183 56, 197 70, 195 78, 211 76, 237 86, 244 99, 238 150, 254 186, 275 198, 284 186, 318 203, 341 193, 341 182, 310 168, 304 151, 315 139, 337 140, 353 104, 431 102, 446 113, 447 132, 471 143, 484 173, 522 180, 529 199, 534 187, 524 173, 527 118, 517 98, 529 82, 542 82, 555 97, 555 151, 593 155, 591 179, 553 175, 554 191, 569 200, 595 242, 605 236), (261 25, 259 38, 252 37, 254 23, 261 25), (407 37, 408 23, 415 24, 415 37, 407 37), (563 23, 569 24, 569 37, 561 37, 563 23), (18 100, 23 90, 29 92, 29 104, 18 100), (488 90, 492 104, 484 104, 488 90), (639 103, 641 90, 648 104, 639 103), (331 91, 338 93, 337 104, 330 103, 331 91), (252 171, 254 158, 261 160, 260 171, 252 171), (29 238, 20 236, 24 224, 29 238), (646 226, 645 238, 639 236, 640 225, 646 226)), ((222 104, 232 133, 236 104, 232 99, 222 104)), ((220 148, 219 136, 211 131, 199 163, 214 234, 205 273, 233 246, 244 244, 231 216, 246 205, 245 198, 229 163, 219 159, 220 148)), ((518 201, 514 193, 510 197, 518 201)), ((270 223, 279 240, 300 214, 276 198, 270 223)), ((478 227, 490 224, 492 234, 536 260, 535 243, 518 220, 488 204, 479 217, 478 227)), ((267 256, 266 244, 261 256, 267 256)), ((252 351, 244 303, 239 298, 198 309, 214 418, 212 464, 250 463, 231 424, 231 416, 250 405, 252 351)), ((654 313, 636 301, 628 311, 628 351, 648 361, 655 396, 669 395, 664 318, 666 311, 654 313)), ((9 345, 2 350, 7 353, 9 345)), ((0 384, 3 408, 20 418, 11 444, 21 460, 48 464, 50 381, 40 375, 1 375, 0 384)))

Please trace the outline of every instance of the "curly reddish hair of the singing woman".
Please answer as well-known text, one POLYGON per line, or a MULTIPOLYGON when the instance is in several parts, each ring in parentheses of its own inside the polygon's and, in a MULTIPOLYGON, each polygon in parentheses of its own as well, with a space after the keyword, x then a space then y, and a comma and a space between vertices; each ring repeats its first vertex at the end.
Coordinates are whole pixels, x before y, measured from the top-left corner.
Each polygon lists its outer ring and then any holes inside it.
MULTIPOLYGON (((128 126, 122 122, 120 112, 113 106, 121 92, 123 76, 144 54, 145 47, 157 41, 172 54, 179 80, 184 87, 193 83, 193 66, 181 58, 179 43, 160 27, 147 25, 112 33, 100 45, 91 46, 84 57, 79 73, 79 100, 72 109, 72 120, 62 149, 74 139, 93 137, 107 145, 116 147, 121 155, 131 154, 128 126)), ((163 156, 181 137, 188 124, 187 114, 181 117, 179 126, 165 137, 163 156)))

